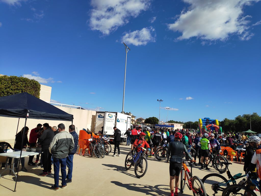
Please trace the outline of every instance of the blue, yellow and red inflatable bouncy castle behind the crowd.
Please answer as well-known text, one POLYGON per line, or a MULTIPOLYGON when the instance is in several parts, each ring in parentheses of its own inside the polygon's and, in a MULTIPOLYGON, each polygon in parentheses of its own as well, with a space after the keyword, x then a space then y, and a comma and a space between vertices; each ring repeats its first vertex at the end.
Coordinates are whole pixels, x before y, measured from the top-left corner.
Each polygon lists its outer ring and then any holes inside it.
POLYGON ((212 133, 217 131, 222 134, 222 127, 218 126, 217 119, 210 119, 208 117, 198 119, 198 132, 204 134, 207 129, 212 133))

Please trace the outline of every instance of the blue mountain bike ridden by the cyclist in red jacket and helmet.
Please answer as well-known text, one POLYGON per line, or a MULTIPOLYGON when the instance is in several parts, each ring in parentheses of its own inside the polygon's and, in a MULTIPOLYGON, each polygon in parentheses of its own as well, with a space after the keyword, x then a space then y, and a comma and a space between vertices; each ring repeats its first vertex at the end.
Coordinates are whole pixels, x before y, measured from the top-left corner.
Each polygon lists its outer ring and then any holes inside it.
POLYGON ((134 166, 135 176, 138 178, 143 177, 148 169, 148 161, 146 157, 144 157, 144 153, 146 152, 146 148, 142 148, 134 144, 134 146, 141 148, 139 152, 137 152, 136 148, 134 148, 131 152, 129 152, 125 158, 125 169, 128 170, 131 166, 134 166))

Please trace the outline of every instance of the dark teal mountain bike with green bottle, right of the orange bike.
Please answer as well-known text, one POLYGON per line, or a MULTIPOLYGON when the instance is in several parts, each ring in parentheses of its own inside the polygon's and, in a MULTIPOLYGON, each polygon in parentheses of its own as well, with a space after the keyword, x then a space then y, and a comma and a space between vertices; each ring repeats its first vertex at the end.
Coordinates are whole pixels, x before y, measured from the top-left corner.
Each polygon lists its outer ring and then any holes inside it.
MULTIPOLYGON (((208 196, 221 195, 222 192, 224 191, 224 189, 230 185, 230 182, 232 182, 233 185, 236 185, 237 179, 243 178, 246 176, 246 175, 242 175, 242 173, 232 176, 228 169, 228 165, 230 165, 232 163, 224 162, 223 164, 227 168, 228 179, 231 179, 231 180, 227 180, 224 176, 222 176, 220 174, 211 173, 211 174, 206 175, 202 179, 202 182, 204 184, 204 187, 206 188, 206 192, 207 192, 208 196)), ((242 185, 245 185, 245 184, 246 184, 246 182, 244 182, 242 185)))

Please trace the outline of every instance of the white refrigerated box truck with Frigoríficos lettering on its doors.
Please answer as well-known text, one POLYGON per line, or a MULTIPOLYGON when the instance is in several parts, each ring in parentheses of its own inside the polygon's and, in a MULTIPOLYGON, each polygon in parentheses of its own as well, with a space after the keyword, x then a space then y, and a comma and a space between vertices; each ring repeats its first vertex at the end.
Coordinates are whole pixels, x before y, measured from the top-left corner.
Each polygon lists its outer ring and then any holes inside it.
POLYGON ((98 134, 99 131, 102 130, 104 135, 109 135, 110 141, 113 141, 114 137, 114 129, 113 127, 117 127, 121 130, 121 138, 123 141, 126 141, 126 136, 123 134, 127 129, 133 129, 131 124, 131 116, 122 114, 119 112, 96 112, 95 125, 94 125, 94 133, 98 134))

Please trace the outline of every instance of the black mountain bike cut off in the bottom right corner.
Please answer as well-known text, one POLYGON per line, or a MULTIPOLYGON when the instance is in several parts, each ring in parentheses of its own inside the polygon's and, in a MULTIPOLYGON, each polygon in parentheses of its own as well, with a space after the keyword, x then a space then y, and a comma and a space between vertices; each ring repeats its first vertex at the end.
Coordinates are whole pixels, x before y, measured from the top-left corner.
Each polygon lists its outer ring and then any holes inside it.
POLYGON ((257 196, 257 194, 254 191, 252 191, 251 187, 256 186, 260 191, 259 182, 257 180, 252 179, 251 176, 247 175, 247 180, 245 184, 246 186, 239 185, 239 184, 228 186, 227 188, 224 189, 222 196, 229 196, 229 195, 257 196))

